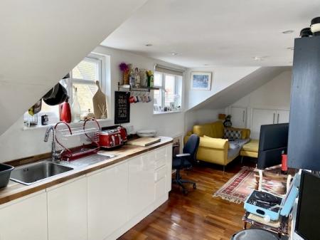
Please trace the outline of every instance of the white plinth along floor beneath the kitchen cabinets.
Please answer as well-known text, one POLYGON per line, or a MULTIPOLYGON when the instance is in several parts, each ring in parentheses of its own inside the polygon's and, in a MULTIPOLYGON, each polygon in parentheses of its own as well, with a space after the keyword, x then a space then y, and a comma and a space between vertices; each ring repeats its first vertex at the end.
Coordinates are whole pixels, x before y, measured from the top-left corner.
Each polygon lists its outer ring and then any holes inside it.
POLYGON ((129 229, 132 229, 133 226, 135 226, 140 221, 142 221, 142 219, 144 219, 146 216, 151 214, 151 212, 154 212, 154 210, 156 210, 158 207, 160 207, 161 204, 164 204, 164 202, 166 202, 168 199, 169 199, 169 193, 166 193, 166 195, 164 195, 164 197, 161 197, 160 199, 156 200, 156 202, 154 202, 149 207, 144 209, 143 212, 141 212, 140 214, 135 216, 133 219, 130 219, 129 221, 127 221, 121 228, 114 231, 114 233, 111 234, 110 236, 108 236, 105 240, 118 239, 119 236, 122 236, 124 233, 129 231, 129 229))

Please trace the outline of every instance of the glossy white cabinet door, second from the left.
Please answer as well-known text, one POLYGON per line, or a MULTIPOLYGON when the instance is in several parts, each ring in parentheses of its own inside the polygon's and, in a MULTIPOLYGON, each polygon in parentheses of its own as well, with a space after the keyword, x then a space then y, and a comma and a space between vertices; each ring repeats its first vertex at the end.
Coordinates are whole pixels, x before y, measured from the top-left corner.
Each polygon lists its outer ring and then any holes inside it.
POLYGON ((47 189, 48 240, 87 239, 87 177, 47 189))

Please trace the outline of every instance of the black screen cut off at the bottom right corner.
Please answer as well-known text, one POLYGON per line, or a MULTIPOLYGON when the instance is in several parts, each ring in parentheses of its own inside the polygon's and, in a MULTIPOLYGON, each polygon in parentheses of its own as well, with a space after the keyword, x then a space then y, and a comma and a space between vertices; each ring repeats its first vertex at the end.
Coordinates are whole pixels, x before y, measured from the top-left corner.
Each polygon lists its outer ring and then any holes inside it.
POLYGON ((295 231, 306 240, 320 239, 320 177, 303 171, 295 231))

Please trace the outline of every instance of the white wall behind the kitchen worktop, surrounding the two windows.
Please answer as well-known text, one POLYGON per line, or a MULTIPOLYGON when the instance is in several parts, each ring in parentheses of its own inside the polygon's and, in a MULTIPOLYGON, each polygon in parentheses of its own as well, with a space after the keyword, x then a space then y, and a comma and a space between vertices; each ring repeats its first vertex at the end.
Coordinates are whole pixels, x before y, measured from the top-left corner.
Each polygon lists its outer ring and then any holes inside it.
MULTIPOLYGON (((119 63, 124 61, 126 63, 133 63, 133 65, 138 68, 146 69, 153 69, 156 63, 172 66, 168 63, 138 56, 127 51, 119 51, 102 46, 95 48, 93 52, 110 56, 111 71, 108 77, 110 78, 110 88, 107 88, 106 90, 110 120, 102 122, 102 126, 114 125, 114 90, 117 90, 118 80, 122 79, 122 75, 118 68, 119 63)), ((178 66, 173 67, 181 68, 178 66)), ((154 115, 153 103, 136 103, 131 105, 130 125, 134 125, 135 130, 155 129, 159 132, 159 135, 176 137, 177 135, 183 135, 184 113, 154 115)), ((46 128, 23 130, 23 119, 21 117, 9 128, 9 130, 0 136, 0 162, 50 152, 50 143, 43 142, 45 130, 46 128)), ((80 138, 75 137, 70 141, 69 145, 77 145, 79 142, 80 138)))

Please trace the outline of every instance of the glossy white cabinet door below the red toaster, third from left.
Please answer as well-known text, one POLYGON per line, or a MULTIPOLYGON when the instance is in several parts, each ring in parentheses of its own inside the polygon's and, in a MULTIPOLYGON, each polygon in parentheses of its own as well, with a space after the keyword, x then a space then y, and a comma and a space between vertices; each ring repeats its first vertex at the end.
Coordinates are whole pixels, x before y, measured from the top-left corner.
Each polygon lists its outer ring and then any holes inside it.
POLYGON ((128 163, 87 175, 88 239, 103 240, 128 220, 128 163))

